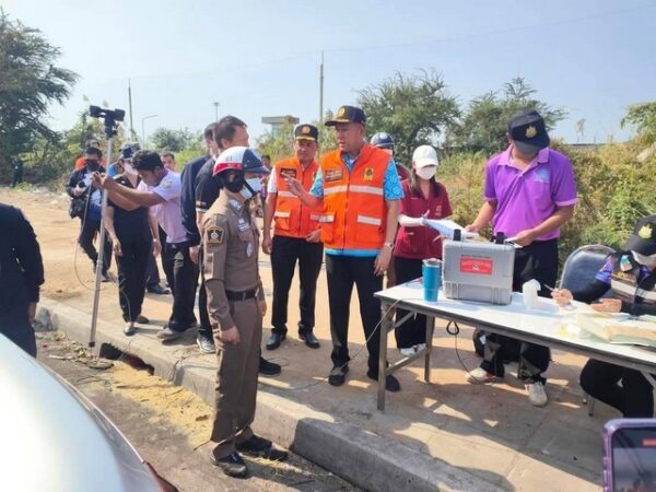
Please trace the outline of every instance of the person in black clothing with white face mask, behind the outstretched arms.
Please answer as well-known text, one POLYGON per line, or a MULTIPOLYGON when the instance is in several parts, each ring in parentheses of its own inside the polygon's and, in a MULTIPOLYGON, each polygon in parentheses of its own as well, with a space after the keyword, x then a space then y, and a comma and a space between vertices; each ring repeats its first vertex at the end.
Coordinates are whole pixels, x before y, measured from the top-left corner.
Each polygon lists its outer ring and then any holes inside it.
MULTIPOLYGON (((114 179, 129 188, 137 188, 139 176, 129 163, 124 165, 126 172, 114 179)), ((152 236, 147 207, 131 208, 128 203, 121 207, 109 201, 106 227, 118 265, 118 302, 126 321, 124 333, 130 336, 136 332, 136 323, 148 323, 148 318, 141 315, 141 306, 150 256, 159 253, 159 241, 152 236)))

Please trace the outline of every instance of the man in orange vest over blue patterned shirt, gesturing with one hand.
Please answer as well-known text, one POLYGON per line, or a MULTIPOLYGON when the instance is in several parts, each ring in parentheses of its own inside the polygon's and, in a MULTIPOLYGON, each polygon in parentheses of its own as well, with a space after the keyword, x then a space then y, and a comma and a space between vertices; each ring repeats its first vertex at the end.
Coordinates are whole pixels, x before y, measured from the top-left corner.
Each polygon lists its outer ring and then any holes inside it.
MULTIPOLYGON (((326 248, 326 273, 330 304, 332 370, 328 383, 341 386, 349 372, 349 308, 353 285, 358 289, 360 317, 368 350, 366 376, 377 380, 380 360, 378 323, 383 276, 389 267, 400 200, 401 181, 389 154, 364 139, 366 115, 355 106, 342 106, 335 118, 339 149, 321 159, 312 189, 295 177, 286 178, 290 191, 314 209, 321 209, 321 239, 326 248)), ((386 362, 385 362, 386 363, 386 362)), ((399 391, 391 374, 385 387, 399 391)))

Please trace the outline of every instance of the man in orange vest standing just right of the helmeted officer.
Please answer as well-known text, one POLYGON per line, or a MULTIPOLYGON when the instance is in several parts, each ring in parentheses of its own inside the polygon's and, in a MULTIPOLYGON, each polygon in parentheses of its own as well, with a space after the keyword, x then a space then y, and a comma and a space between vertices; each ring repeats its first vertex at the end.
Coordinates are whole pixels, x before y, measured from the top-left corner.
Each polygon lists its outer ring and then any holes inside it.
MULTIPOLYGON (((288 189, 286 177, 294 177, 308 191, 314 184, 319 165, 315 161, 319 130, 313 125, 298 125, 294 129, 294 156, 277 162, 269 177, 265 206, 262 251, 271 255, 273 274, 273 308, 271 337, 267 349, 280 347, 286 337, 288 301, 296 262, 301 278, 298 307, 298 338, 311 349, 318 349, 319 341, 313 332, 315 325, 315 297, 317 279, 321 270, 324 245, 319 229, 320 210, 303 204, 288 189), (271 238, 271 224, 276 230, 271 238)), ((262 163, 263 164, 263 163, 262 163)))

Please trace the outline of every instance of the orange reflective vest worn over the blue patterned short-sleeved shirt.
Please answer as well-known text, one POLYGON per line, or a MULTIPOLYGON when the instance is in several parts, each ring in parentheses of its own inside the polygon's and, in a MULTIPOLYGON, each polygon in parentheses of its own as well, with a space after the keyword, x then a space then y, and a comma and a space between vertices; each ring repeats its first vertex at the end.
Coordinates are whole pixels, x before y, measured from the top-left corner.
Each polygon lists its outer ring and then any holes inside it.
POLYGON ((383 195, 389 155, 366 143, 349 173, 336 150, 321 160, 321 239, 333 249, 379 249, 385 243, 387 206, 383 195))

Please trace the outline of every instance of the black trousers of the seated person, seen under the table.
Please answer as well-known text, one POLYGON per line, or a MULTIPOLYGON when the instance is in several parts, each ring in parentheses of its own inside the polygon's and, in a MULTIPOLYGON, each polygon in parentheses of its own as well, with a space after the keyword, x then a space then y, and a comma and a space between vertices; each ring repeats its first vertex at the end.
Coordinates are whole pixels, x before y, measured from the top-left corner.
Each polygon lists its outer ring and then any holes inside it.
POLYGON ((590 359, 581 372, 581 387, 625 418, 654 417, 654 388, 639 371, 590 359))

